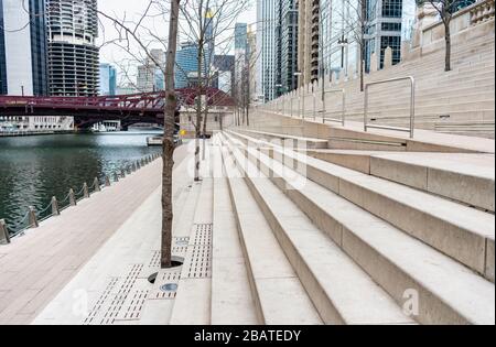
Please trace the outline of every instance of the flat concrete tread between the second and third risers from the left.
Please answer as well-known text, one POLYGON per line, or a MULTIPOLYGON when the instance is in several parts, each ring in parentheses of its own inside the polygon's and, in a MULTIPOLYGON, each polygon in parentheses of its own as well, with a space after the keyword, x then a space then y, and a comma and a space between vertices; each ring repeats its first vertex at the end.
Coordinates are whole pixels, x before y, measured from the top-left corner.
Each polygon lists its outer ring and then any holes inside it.
POLYGON ((412 324, 392 299, 268 178, 254 185, 347 324, 412 324))

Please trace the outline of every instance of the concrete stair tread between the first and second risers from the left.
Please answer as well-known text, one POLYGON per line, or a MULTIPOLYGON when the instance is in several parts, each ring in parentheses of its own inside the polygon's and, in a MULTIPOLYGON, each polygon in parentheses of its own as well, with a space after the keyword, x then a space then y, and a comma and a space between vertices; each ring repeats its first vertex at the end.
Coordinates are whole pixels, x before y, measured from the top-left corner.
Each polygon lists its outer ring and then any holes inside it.
POLYGON ((226 149, 223 155, 259 322, 267 325, 322 324, 226 149))

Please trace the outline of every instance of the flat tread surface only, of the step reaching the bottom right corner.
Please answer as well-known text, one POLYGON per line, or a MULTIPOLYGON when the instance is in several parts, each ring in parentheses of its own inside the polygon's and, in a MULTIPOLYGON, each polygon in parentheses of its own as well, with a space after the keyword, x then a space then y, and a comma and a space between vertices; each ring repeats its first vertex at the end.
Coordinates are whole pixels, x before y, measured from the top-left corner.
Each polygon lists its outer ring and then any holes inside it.
MULTIPOLYGON (((265 155, 261 160, 281 172, 281 164, 265 155)), ((285 169, 285 172, 288 171, 285 169)), ((306 182, 301 192, 417 283, 455 307, 468 321, 494 324, 493 283, 316 183, 306 182)))

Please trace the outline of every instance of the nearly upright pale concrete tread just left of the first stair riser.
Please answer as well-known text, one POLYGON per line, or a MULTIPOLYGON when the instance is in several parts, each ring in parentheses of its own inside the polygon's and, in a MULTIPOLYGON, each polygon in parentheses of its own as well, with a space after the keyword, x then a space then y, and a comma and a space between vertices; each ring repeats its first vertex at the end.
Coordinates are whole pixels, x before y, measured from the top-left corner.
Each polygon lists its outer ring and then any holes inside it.
POLYGON ((224 173, 219 147, 213 148, 214 226, 212 257, 212 325, 260 324, 247 264, 224 173))

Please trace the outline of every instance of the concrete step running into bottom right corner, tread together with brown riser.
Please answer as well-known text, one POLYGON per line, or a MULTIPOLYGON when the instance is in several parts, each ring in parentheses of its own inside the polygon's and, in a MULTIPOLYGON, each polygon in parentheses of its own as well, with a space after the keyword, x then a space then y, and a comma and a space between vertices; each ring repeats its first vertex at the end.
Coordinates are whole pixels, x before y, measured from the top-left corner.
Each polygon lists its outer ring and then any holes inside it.
POLYGON ((418 297, 419 323, 494 324, 494 283, 263 153, 231 141, 398 305, 418 297))

